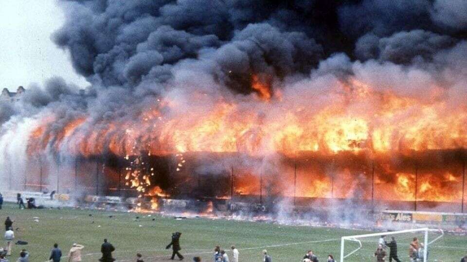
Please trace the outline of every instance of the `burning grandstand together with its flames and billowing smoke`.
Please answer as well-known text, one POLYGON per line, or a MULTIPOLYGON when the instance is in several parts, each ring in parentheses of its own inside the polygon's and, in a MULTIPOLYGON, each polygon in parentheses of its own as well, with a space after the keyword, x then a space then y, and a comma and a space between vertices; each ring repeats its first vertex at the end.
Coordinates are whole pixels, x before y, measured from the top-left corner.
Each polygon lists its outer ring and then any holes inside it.
POLYGON ((2 104, 10 187, 464 211, 466 29, 446 9, 346 32, 371 7, 63 4, 54 41, 91 85, 52 79, 2 104), (341 28, 321 34, 328 8, 341 28))

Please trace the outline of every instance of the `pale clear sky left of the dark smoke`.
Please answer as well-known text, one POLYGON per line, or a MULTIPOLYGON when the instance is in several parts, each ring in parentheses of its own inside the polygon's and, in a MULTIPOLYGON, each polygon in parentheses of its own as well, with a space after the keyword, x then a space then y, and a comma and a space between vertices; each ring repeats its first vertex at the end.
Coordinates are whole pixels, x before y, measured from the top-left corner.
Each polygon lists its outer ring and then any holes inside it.
POLYGON ((72 68, 68 51, 50 35, 64 22, 55 0, 0 0, 0 88, 42 83, 61 76, 84 88, 89 84, 72 68))

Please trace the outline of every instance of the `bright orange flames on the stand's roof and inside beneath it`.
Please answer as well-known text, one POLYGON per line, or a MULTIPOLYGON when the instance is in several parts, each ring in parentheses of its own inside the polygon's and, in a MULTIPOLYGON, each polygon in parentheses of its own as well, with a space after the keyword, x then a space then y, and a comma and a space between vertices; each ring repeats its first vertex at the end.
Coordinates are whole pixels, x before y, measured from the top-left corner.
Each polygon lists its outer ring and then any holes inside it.
MULTIPOLYGON (((268 103, 251 101, 248 96, 193 93, 188 110, 186 102, 160 98, 136 113, 133 120, 80 116, 67 122, 58 116, 44 117, 30 133, 27 152, 34 155, 48 149, 85 157, 105 153, 126 157, 143 151, 153 155, 240 152, 253 157, 280 152, 290 157, 306 151, 323 156, 350 152, 390 158, 392 154, 467 148, 467 106, 450 108, 444 99, 448 88, 428 87, 430 99, 422 99, 349 79, 335 81, 324 94, 311 86, 279 92, 258 74, 251 75, 251 88, 268 103), (276 94, 280 99, 272 99, 276 94), (57 123, 61 129, 56 130, 55 121, 63 122, 57 123)), ((142 175, 135 172, 128 170, 128 185, 142 195, 148 193, 147 186, 154 185, 150 185, 148 176, 135 179, 142 175)), ((413 200, 414 175, 386 172, 392 180, 375 181, 388 192, 386 197, 413 200)), ((305 177, 315 178, 302 181, 306 187, 298 190, 301 196, 350 197, 355 193, 352 187, 329 193, 333 185, 339 188, 354 182, 355 172, 351 170, 340 170, 335 184, 326 171, 305 173, 305 177)), ((453 186, 460 182, 456 175, 439 171, 421 174, 417 198, 458 201, 459 190, 453 186), (440 189, 455 192, 443 193, 440 189)), ((258 192, 256 185, 239 184, 238 192, 258 192)), ((149 194, 163 194, 152 190, 149 194)))

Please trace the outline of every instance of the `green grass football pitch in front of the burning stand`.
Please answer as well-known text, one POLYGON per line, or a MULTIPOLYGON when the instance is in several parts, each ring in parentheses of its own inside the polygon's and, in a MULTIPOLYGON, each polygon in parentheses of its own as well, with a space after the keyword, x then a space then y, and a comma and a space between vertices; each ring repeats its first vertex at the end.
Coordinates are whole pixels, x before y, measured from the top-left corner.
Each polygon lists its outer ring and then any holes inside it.
MULTIPOLYGON (((29 245, 13 246, 10 262, 16 261, 21 248, 30 251, 31 262, 46 262, 54 243, 58 243, 64 256, 72 243, 82 244, 85 246, 83 261, 96 262, 100 258, 100 245, 104 238, 108 238, 116 247, 114 257, 117 261, 136 261, 137 252, 143 254, 145 262, 168 261, 171 251, 164 248, 175 231, 182 232, 181 253, 185 261, 201 256, 203 262, 211 262, 215 245, 228 250, 231 256, 231 244, 237 245, 241 262, 263 261, 263 249, 268 250, 274 262, 300 262, 308 249, 314 250, 320 261, 326 261, 327 254, 339 257, 341 236, 372 233, 205 218, 176 220, 155 214, 149 217, 147 214, 99 210, 18 210, 17 206, 10 204, 0 210, 2 225, 7 215, 15 220, 13 226, 19 228, 15 232, 16 240, 29 242, 29 245), (137 216, 140 217, 139 221, 134 221, 137 216), (35 222, 34 217, 38 217, 39 222, 35 222)), ((422 235, 396 236, 401 261, 409 261, 408 245, 414 236, 422 235)), ((6 244, 4 241, 2 243, 6 244)), ((377 238, 364 239, 363 248, 345 261, 376 261, 372 255, 376 243, 377 238)), ((346 243, 347 246, 348 252, 357 244, 346 243)), ((429 252, 429 261, 459 262, 462 256, 467 255, 467 237, 445 235, 431 245, 429 252)))

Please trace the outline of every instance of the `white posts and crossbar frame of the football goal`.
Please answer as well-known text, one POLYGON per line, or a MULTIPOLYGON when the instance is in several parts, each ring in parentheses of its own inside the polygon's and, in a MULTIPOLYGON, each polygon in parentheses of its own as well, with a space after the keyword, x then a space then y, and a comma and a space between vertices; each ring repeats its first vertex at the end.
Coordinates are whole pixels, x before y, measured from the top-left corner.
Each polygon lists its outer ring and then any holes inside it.
POLYGON ((403 234, 403 233, 413 233, 413 232, 424 232, 425 237, 424 237, 424 246, 423 248, 423 262, 427 262, 427 253, 428 253, 428 246, 431 245, 431 243, 437 241, 438 239, 442 238, 444 235, 444 231, 441 229, 431 229, 428 227, 424 228, 417 228, 417 229, 406 229, 406 230, 399 230, 399 231, 388 231, 388 232, 379 232, 379 233, 373 233, 373 234, 363 234, 363 235, 353 235, 353 236, 344 236, 341 237, 341 262, 344 262, 344 259, 349 257, 350 255, 354 254, 355 252, 359 251, 362 248, 361 241, 359 241, 359 238, 366 238, 366 237, 378 237, 381 235, 396 235, 396 234, 403 234), (428 242, 428 232, 440 232, 441 235, 437 236, 430 242, 428 242), (352 252, 348 253, 347 255, 344 254, 344 245, 345 241, 354 241, 359 244, 359 247, 353 250, 352 252))

